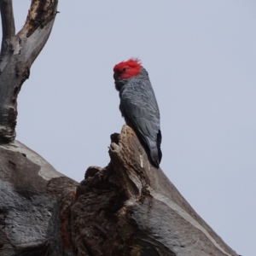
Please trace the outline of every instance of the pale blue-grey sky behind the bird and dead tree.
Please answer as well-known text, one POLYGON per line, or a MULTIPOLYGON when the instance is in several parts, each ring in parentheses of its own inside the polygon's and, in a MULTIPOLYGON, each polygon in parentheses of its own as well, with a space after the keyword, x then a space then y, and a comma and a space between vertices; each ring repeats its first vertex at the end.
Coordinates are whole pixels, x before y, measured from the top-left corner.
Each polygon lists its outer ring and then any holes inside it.
MULTIPOLYGON (((31 1, 14 0, 16 30, 31 1)), ((17 139, 76 181, 125 121, 113 66, 139 57, 162 170, 242 256, 256 255, 256 1, 60 1, 18 99, 17 139)))

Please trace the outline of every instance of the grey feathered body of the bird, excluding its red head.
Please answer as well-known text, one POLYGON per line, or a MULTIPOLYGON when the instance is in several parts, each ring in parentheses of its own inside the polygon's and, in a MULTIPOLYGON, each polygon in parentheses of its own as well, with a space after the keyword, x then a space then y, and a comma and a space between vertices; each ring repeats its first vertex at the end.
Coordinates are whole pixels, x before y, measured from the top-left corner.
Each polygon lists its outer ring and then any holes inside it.
POLYGON ((131 125, 143 141, 154 166, 161 160, 160 111, 154 90, 143 68, 136 77, 116 81, 119 87, 119 109, 127 125, 131 125))

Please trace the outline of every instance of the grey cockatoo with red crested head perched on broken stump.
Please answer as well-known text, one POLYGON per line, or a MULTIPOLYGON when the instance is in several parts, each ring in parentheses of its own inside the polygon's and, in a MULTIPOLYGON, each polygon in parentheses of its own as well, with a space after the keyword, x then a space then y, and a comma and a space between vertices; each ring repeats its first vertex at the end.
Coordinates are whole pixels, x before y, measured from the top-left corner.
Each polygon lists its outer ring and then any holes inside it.
POLYGON ((162 158, 160 110, 148 72, 139 59, 131 58, 113 67, 113 79, 126 125, 136 132, 151 164, 159 168, 162 158))

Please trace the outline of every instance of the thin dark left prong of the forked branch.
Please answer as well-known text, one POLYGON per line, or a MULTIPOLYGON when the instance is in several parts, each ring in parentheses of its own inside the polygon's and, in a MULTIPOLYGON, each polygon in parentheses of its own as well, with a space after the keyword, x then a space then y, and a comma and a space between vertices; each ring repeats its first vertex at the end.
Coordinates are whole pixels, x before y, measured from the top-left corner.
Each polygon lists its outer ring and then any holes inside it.
POLYGON ((0 59, 2 59, 3 55, 7 54, 9 49, 14 49, 12 41, 15 38, 15 18, 12 0, 0 0, 0 10, 3 31, 2 47, 0 54, 0 59))

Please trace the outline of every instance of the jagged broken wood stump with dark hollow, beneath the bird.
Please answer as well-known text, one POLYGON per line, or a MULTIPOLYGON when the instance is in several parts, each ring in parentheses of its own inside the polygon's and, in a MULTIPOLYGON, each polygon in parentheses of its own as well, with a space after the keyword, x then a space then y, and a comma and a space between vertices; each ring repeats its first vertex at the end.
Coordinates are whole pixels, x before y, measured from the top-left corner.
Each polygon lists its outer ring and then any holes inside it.
POLYGON ((75 255, 237 256, 189 206, 127 125, 110 164, 90 167, 71 207, 75 255))

